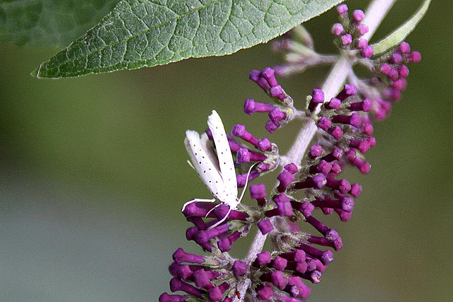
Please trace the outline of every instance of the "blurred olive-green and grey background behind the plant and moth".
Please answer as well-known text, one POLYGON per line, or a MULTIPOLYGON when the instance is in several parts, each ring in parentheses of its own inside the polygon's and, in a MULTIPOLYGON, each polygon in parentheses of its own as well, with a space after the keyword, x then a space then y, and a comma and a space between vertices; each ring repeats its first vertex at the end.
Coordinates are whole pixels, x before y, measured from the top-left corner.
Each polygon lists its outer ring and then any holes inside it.
MULTIPOLYGON (((397 1, 374 41, 419 2, 397 1)), ((375 124, 371 173, 349 174, 364 191, 352 220, 322 218, 344 248, 309 301, 451 301, 451 11, 451 1, 433 1, 407 38, 422 62, 409 66, 402 100, 375 124)), ((329 11, 306 23, 320 52, 333 50, 334 22, 329 11)), ((201 252, 185 241, 180 207, 210 198, 186 163, 185 130, 202 132, 215 109, 227 130, 241 123, 269 137, 265 115, 250 117, 242 106, 267 100, 248 72, 282 57, 258 45, 79 79, 29 75, 56 51, 0 44, 0 301, 157 301, 169 291, 172 253, 201 252)), ((302 105, 326 70, 281 83, 302 105)), ((294 133, 269 139, 285 153, 294 133)), ((245 254, 247 239, 234 255, 245 254)))

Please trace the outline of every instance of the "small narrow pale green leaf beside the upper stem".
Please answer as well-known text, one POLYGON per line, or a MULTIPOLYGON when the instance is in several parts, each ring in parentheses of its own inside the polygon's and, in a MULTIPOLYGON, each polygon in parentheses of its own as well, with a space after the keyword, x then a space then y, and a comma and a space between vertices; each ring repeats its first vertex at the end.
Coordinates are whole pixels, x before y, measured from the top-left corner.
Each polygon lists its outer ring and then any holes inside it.
POLYGON ((418 9, 415 15, 412 16, 406 23, 401 25, 400 28, 395 30, 389 36, 385 37, 384 39, 380 40, 379 42, 372 45, 374 50, 374 55, 376 54, 383 54, 387 52, 391 48, 396 47, 401 42, 406 39, 406 37, 411 33, 411 31, 415 28, 415 25, 422 20, 423 16, 425 16, 426 11, 428 11, 428 6, 430 6, 431 0, 425 0, 423 5, 418 9))

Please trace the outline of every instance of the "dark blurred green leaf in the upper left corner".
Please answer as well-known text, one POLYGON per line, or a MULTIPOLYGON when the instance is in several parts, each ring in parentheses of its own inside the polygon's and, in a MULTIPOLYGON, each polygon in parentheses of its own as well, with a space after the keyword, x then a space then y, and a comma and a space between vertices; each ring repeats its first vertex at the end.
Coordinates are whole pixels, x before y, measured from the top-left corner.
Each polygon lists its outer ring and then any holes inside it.
POLYGON ((118 1, 0 1, 0 41, 62 47, 96 25, 118 1))

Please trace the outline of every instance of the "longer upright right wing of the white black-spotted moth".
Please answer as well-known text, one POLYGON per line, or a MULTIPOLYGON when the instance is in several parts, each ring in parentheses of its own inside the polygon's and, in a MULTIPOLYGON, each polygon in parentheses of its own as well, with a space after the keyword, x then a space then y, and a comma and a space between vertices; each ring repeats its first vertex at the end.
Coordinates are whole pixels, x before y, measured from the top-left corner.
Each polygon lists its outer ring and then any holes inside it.
POLYGON ((212 115, 207 118, 207 124, 212 132, 212 138, 217 150, 220 175, 224 183, 224 200, 222 202, 236 208, 236 199, 238 197, 236 170, 234 170, 233 156, 226 138, 224 124, 215 110, 212 110, 212 115))

